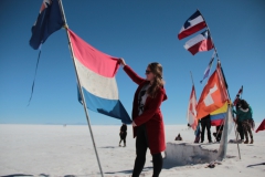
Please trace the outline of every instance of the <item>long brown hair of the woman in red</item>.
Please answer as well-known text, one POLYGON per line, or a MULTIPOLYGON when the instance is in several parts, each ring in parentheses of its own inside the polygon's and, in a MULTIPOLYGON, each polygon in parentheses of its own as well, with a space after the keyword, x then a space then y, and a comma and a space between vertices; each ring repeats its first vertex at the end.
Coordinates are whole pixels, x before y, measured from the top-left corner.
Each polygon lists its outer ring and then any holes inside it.
POLYGON ((148 67, 153 73, 155 79, 153 79, 152 85, 148 88, 147 93, 150 95, 150 97, 153 98, 157 95, 157 90, 163 86, 162 65, 155 62, 155 63, 148 64, 148 67))

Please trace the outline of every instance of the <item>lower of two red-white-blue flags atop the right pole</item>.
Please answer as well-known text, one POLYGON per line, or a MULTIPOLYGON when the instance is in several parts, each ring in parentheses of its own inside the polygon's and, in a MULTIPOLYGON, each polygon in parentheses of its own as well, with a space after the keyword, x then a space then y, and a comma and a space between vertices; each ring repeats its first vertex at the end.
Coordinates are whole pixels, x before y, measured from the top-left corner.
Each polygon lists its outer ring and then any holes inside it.
POLYGON ((201 34, 187 41, 184 49, 190 51, 193 55, 198 52, 210 51, 213 49, 213 42, 210 38, 209 31, 205 30, 201 34))

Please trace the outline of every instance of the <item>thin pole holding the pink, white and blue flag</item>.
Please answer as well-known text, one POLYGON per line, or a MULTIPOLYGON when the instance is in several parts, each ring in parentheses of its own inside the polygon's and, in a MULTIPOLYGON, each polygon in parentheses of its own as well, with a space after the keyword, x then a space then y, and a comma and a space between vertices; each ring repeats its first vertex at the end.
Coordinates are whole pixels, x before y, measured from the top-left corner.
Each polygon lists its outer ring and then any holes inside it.
POLYGON ((82 90, 82 87, 81 87, 81 82, 80 82, 80 77, 78 77, 78 74, 77 74, 76 64, 75 64, 75 61, 74 61, 73 46, 72 46, 72 43, 71 43, 71 40, 70 40, 70 34, 68 34, 68 31, 67 31, 68 27, 67 27, 67 22, 66 22, 64 9, 63 9, 62 0, 59 0, 59 3, 60 3, 61 13, 62 13, 62 15, 63 15, 63 20, 64 20, 64 22, 65 22, 65 31, 66 31, 66 35, 67 35, 67 40, 68 40, 68 48, 70 48, 71 56, 72 56, 73 64, 74 64, 74 69, 75 69, 75 75, 76 75, 76 80, 77 80, 78 92, 80 92, 80 94, 81 94, 83 107, 84 107, 84 111, 85 111, 85 114, 86 114, 86 121, 87 121, 87 124, 88 124, 88 129, 89 129, 89 132, 91 132, 91 137, 92 137, 92 142, 93 142, 94 150, 95 150, 95 154, 96 154, 98 167, 99 167, 102 177, 104 177, 103 169, 102 169, 102 165, 100 165, 100 160, 99 160, 98 153, 97 153, 97 148, 96 148, 96 143, 95 143, 95 139, 94 139, 94 136, 93 136, 93 132, 92 132, 92 126, 91 126, 91 121, 89 121, 89 116, 88 116, 88 111, 87 111, 87 108, 86 108, 87 106, 86 106, 84 93, 83 93, 83 90, 82 90))

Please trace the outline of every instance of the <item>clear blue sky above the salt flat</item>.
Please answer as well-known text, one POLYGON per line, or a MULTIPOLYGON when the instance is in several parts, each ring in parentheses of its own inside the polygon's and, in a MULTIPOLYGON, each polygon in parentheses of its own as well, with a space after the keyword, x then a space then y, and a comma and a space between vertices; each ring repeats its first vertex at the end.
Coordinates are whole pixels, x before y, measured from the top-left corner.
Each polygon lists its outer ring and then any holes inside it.
MULTIPOLYGON (((53 33, 42 46, 35 88, 31 85, 38 51, 29 45, 31 27, 42 0, 0 1, 0 123, 86 124, 77 102, 76 80, 65 30, 53 33)), ((163 66, 168 101, 162 104, 166 124, 186 124, 193 74, 197 98, 213 51, 191 55, 177 34, 184 21, 200 9, 218 48, 234 98, 241 85, 254 111, 265 118, 265 1, 263 0, 63 0, 71 30, 96 49, 124 58, 139 75, 148 63, 163 66)), ((213 63, 212 72, 216 66, 213 63)), ((211 73, 212 73, 211 72, 211 73)), ((130 114, 135 85, 123 70, 117 75, 119 97, 130 114)), ((92 124, 120 124, 119 119, 88 111, 92 124)))

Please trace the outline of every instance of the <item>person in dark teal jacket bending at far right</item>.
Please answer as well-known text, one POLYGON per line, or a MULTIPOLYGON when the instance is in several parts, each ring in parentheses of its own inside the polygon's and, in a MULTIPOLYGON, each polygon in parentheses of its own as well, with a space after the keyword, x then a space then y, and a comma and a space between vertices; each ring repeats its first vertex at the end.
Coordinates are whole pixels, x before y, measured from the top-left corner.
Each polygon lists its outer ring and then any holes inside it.
POLYGON ((248 144, 248 143, 253 144, 254 139, 253 139, 252 127, 251 127, 251 124, 253 123, 252 107, 248 105, 248 103, 245 100, 241 100, 239 108, 236 111, 233 110, 233 112, 237 115, 236 122, 242 123, 243 132, 244 132, 245 139, 246 139, 244 142, 244 144, 248 144), (251 142, 248 142, 247 133, 250 134, 251 142))

